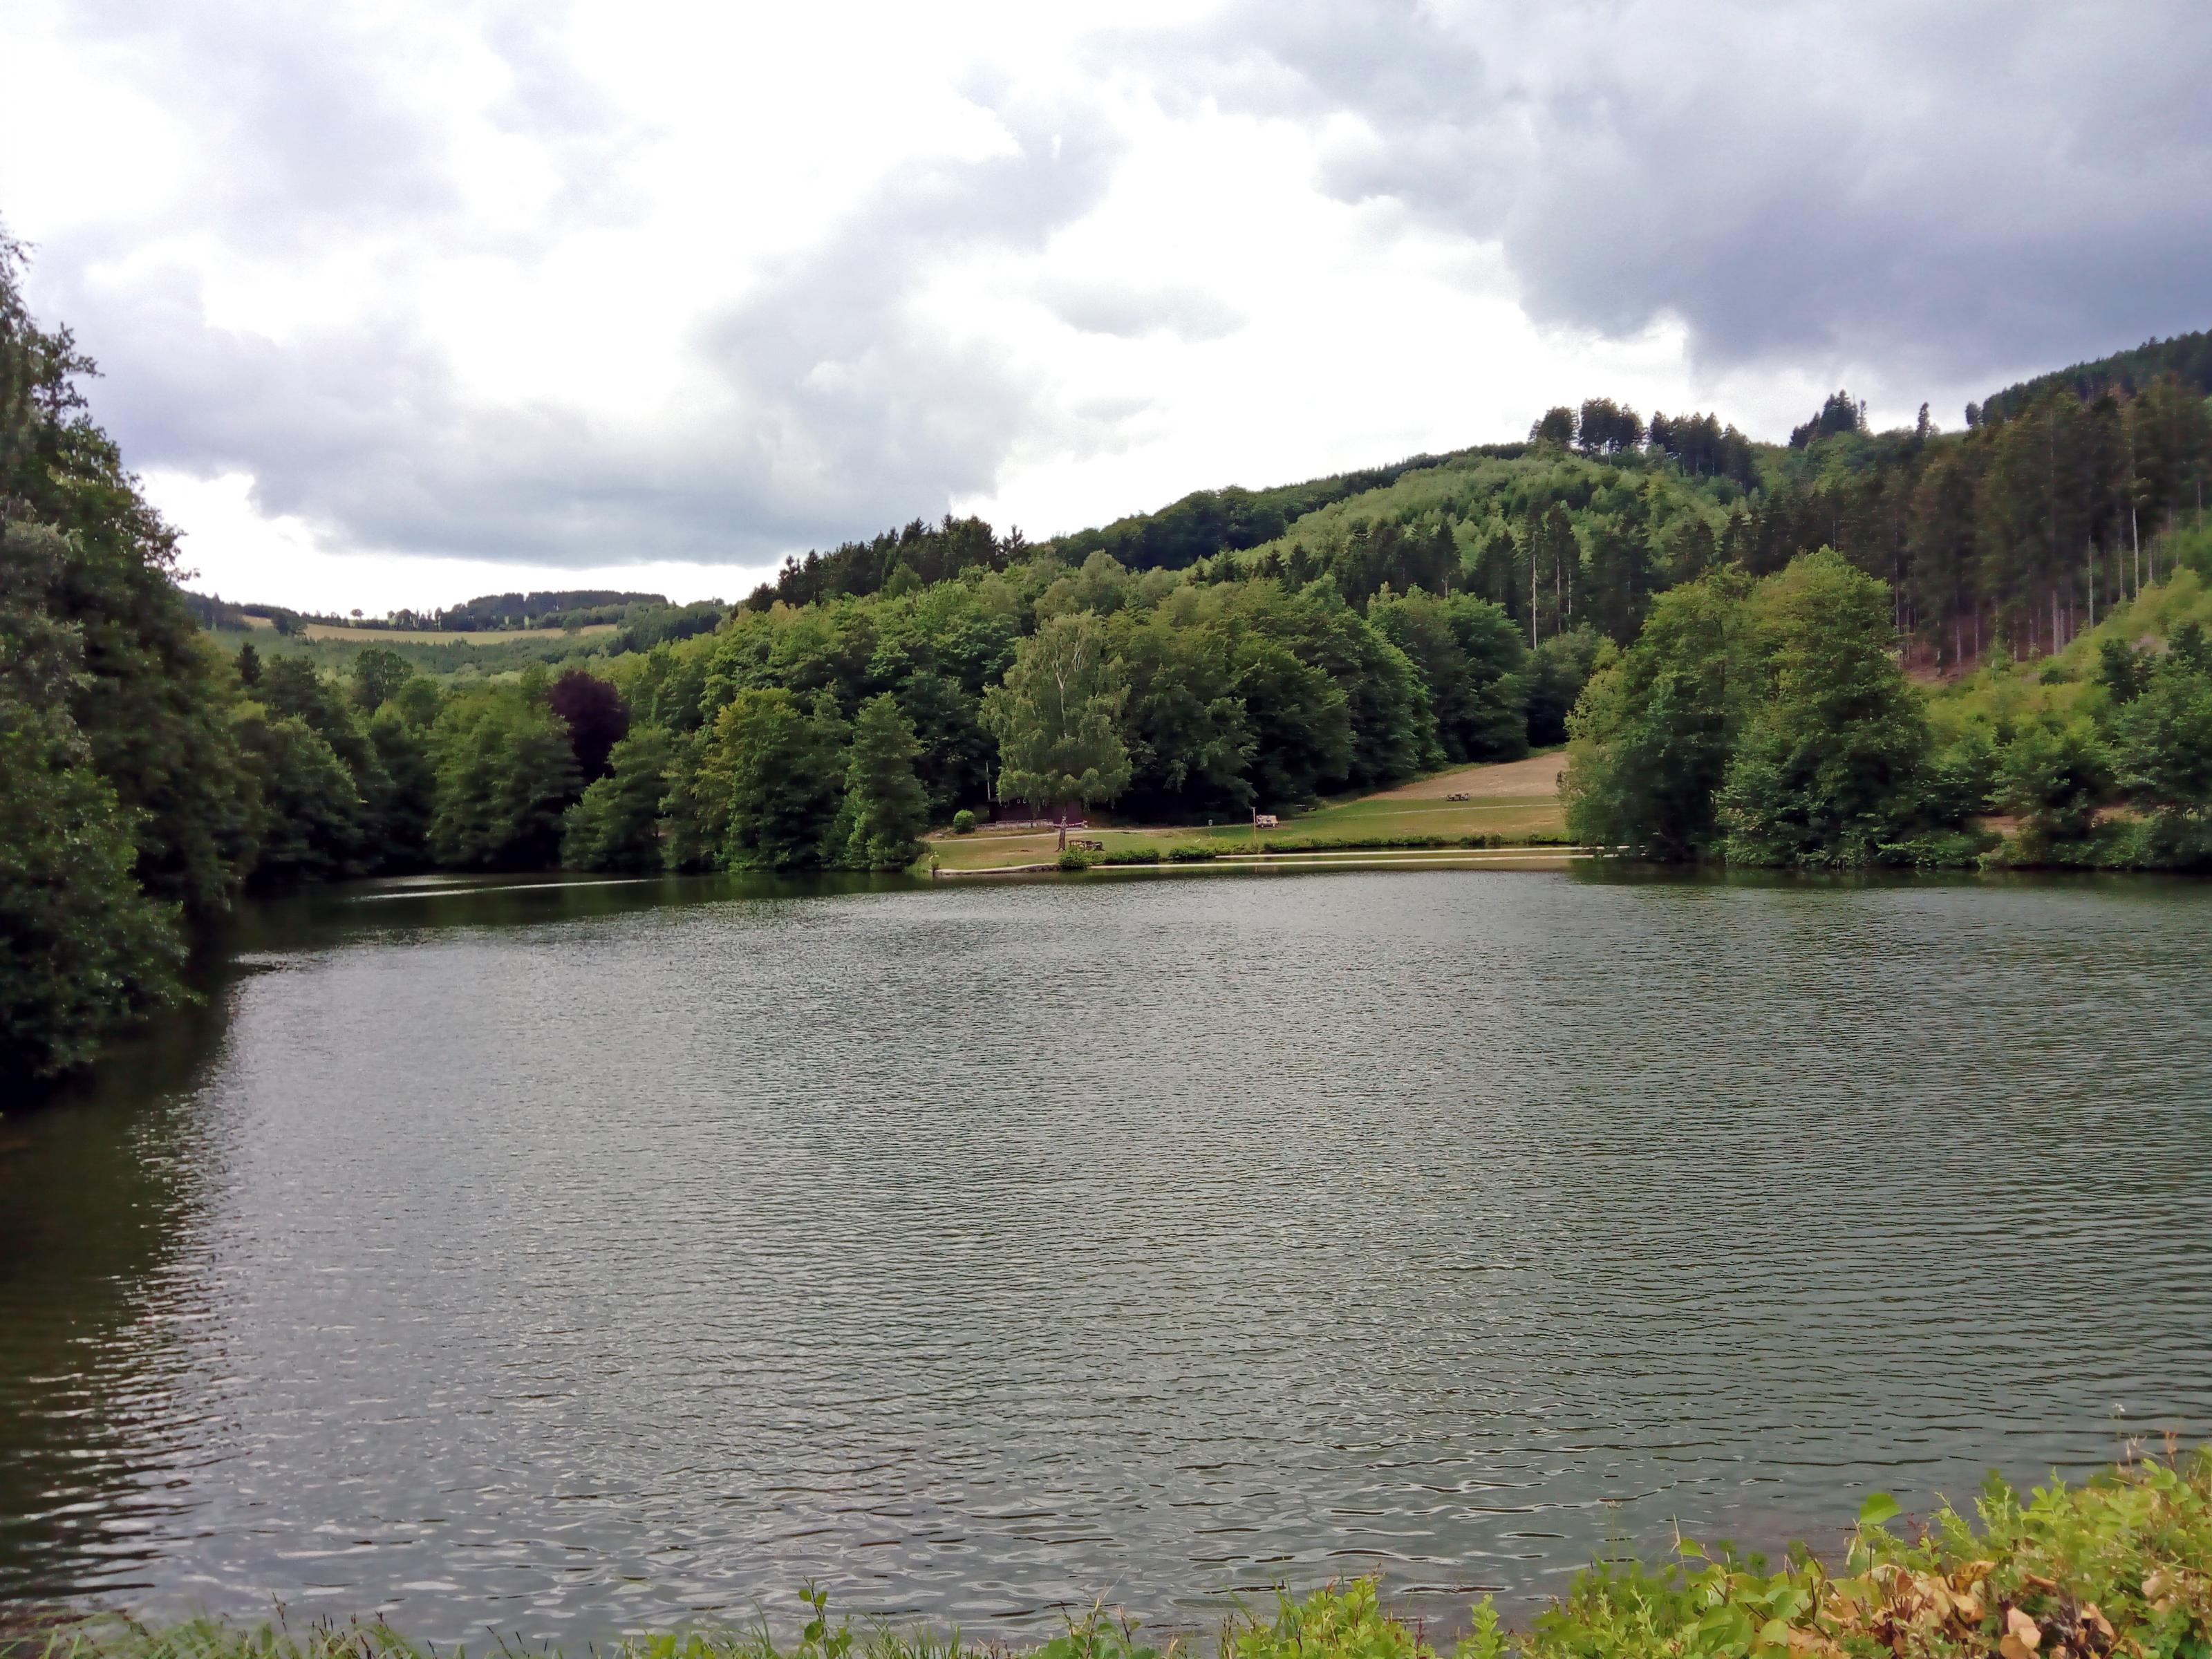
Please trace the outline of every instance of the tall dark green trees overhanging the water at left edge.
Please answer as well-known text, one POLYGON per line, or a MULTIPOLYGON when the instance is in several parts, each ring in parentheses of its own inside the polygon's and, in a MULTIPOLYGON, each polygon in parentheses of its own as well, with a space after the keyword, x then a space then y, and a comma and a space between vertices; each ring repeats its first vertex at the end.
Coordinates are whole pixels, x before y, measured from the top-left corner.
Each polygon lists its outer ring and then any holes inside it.
POLYGON ((173 540, 82 416, 0 237, 0 1088, 93 1060, 181 998, 184 911, 252 854, 257 803, 170 582, 173 540))

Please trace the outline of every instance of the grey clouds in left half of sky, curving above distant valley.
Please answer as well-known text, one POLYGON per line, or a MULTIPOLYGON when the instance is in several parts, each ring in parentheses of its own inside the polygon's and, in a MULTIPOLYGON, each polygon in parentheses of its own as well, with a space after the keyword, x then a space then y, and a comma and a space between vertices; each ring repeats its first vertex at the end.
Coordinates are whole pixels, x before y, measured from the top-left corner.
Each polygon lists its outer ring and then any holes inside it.
POLYGON ((529 13, 487 31, 509 71, 495 119, 564 164, 564 192, 526 232, 467 221, 440 135, 407 97, 407 49, 349 35, 336 13, 111 11, 84 27, 106 31, 97 44, 117 73, 157 91, 221 161, 186 223, 38 250, 40 307, 106 369, 97 416, 137 467, 250 471, 263 511, 372 549, 745 564, 987 487, 1037 420, 1035 387, 987 343, 922 321, 916 285, 940 257, 1035 248, 1097 201, 1115 153, 1077 111, 984 88, 1015 153, 894 170, 827 239, 714 314, 697 347, 728 394, 719 409, 599 422, 484 407, 405 303, 276 345, 210 323, 177 265, 124 259, 148 232, 204 230, 272 257, 321 237, 526 257, 518 241, 619 223, 626 133, 529 13))

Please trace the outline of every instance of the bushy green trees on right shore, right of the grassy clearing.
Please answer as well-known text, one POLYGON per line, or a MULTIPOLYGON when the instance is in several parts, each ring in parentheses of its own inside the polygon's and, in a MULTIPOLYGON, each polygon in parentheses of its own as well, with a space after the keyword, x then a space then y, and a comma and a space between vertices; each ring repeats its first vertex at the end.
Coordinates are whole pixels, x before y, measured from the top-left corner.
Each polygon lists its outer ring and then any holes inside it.
MULTIPOLYGON (((2152 595, 2199 606, 2194 571, 2152 595)), ((1885 586, 1834 549, 1657 599, 1590 679, 1571 834, 1661 863, 2212 867, 2212 639, 2199 615, 2084 664, 1929 699, 1885 586)), ((2084 650, 2090 641, 2084 641, 2084 650)), ((2075 653, 2079 655, 2079 653, 2075 653)))

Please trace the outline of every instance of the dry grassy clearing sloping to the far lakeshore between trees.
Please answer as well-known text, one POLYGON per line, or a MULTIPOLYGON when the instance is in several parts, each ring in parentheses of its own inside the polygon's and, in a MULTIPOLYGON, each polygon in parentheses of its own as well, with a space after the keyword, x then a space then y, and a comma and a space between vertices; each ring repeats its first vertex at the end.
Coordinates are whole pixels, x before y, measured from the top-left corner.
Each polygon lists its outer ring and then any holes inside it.
MULTIPOLYGON (((1559 772, 1564 754, 1533 754, 1526 761, 1500 765, 1462 765, 1451 772, 1405 783, 1380 794, 1336 801, 1279 830, 1261 832, 1276 847, 1321 841, 1398 841, 1405 836, 1557 836, 1566 823, 1559 816, 1559 772), (1447 801, 1467 794, 1467 801, 1447 801)), ((1137 847, 1188 847, 1199 843, 1237 845, 1252 841, 1243 818, 1219 825, 1161 825, 1135 830, 1082 830, 1086 841, 1106 843, 1106 852, 1137 847)), ((1009 865, 1051 863, 1060 836, 1051 830, 1000 832, 978 830, 971 836, 938 834, 929 849, 945 869, 1002 869, 1009 865)))

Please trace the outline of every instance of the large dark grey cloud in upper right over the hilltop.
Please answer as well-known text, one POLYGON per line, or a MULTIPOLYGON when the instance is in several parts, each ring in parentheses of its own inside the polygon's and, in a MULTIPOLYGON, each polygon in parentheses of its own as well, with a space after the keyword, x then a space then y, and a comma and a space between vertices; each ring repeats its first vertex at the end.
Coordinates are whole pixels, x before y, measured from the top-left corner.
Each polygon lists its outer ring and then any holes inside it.
POLYGON ((2212 325, 2212 9, 1252 4, 1146 51, 1338 119, 1321 184, 1710 367, 1993 376, 2212 325))

